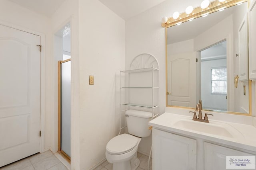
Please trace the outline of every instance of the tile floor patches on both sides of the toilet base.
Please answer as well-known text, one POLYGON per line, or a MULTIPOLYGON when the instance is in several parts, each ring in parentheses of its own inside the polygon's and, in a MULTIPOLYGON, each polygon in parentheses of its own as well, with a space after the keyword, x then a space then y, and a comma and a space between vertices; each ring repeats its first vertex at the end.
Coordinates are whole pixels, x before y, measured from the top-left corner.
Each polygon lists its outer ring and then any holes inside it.
MULTIPOLYGON (((138 158, 140 159, 140 166, 137 168, 137 170, 148 170, 148 156, 141 154, 138 152, 137 154, 138 158)), ((100 166, 95 168, 94 170, 112 170, 113 164, 108 163, 106 160, 104 163, 102 163, 100 166)), ((150 158, 150 170, 152 170, 152 158, 150 158)))

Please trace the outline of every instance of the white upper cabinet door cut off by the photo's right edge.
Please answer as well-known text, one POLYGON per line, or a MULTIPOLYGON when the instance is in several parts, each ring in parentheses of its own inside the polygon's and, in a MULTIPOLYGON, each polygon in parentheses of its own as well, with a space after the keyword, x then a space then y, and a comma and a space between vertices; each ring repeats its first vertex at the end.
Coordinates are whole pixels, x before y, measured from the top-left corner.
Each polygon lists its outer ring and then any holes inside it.
POLYGON ((256 0, 249 8, 249 78, 256 80, 256 0))

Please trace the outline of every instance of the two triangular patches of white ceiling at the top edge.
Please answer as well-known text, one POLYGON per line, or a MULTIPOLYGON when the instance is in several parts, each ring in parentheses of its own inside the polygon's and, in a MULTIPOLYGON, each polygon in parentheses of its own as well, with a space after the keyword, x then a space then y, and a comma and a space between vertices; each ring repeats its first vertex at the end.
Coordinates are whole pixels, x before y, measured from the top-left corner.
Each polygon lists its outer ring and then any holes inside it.
MULTIPOLYGON (((51 17, 65 0, 10 0, 24 8, 51 17)), ((118 16, 127 20, 165 0, 99 0, 118 16)))

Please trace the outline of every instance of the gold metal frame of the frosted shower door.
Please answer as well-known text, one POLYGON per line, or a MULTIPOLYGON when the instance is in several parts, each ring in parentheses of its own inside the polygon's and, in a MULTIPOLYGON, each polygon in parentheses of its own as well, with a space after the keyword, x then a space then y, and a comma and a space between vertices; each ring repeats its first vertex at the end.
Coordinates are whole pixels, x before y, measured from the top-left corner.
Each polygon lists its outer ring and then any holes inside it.
POLYGON ((70 163, 70 156, 61 149, 61 64, 69 61, 71 61, 71 59, 58 61, 58 153, 70 163))

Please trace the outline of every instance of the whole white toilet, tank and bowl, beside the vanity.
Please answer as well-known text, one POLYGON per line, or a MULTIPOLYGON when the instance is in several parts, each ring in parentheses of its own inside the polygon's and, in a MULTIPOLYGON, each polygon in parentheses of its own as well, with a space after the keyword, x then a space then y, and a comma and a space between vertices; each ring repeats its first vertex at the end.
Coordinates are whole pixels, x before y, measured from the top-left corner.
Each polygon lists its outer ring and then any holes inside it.
POLYGON ((140 165, 137 150, 141 138, 151 133, 148 129, 151 112, 129 109, 125 116, 129 134, 112 138, 106 146, 106 159, 113 164, 113 170, 136 170, 140 165))

